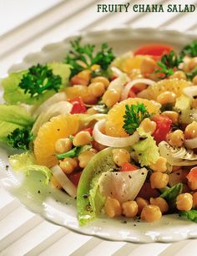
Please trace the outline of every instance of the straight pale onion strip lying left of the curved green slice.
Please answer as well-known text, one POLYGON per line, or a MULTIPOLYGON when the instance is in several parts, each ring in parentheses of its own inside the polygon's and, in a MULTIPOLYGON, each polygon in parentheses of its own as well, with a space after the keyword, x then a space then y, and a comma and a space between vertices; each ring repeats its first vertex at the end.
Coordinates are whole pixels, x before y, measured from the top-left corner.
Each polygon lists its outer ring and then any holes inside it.
POLYGON ((71 182, 66 174, 63 172, 63 170, 57 165, 53 166, 51 168, 51 171, 53 173, 53 176, 56 178, 56 180, 59 182, 59 184, 63 187, 65 192, 68 192, 68 195, 71 197, 77 197, 77 188, 73 185, 73 182, 71 182))

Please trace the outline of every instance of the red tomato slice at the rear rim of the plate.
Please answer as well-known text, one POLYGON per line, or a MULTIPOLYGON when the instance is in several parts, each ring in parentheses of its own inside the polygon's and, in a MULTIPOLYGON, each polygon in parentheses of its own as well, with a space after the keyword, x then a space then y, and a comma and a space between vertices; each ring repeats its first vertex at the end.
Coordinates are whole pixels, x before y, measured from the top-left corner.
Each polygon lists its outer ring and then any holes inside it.
POLYGON ((168 44, 146 44, 136 49, 134 55, 161 56, 168 54, 172 49, 173 47, 168 44))

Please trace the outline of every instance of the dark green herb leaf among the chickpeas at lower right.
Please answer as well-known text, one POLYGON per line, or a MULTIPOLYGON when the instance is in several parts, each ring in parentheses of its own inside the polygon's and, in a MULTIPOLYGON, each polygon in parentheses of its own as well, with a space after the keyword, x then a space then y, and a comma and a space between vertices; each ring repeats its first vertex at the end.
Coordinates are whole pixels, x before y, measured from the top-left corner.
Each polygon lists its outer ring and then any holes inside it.
POLYGON ((164 198, 168 203, 170 209, 174 209, 176 206, 176 197, 183 191, 183 184, 178 183, 173 187, 167 188, 160 197, 164 198))

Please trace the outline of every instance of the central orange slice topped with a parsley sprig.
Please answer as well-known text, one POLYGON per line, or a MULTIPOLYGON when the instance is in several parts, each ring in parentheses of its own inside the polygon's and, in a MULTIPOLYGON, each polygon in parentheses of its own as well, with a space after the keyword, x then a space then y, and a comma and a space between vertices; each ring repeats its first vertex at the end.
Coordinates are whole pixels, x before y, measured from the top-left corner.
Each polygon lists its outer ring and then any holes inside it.
POLYGON ((139 99, 139 98, 129 98, 127 100, 121 101, 119 104, 114 105, 114 107, 109 110, 107 120, 105 123, 105 132, 108 136, 114 137, 125 137, 129 136, 123 128, 124 125, 124 114, 125 105, 137 105, 144 103, 149 114, 158 114, 159 105, 155 104, 150 100, 139 99))

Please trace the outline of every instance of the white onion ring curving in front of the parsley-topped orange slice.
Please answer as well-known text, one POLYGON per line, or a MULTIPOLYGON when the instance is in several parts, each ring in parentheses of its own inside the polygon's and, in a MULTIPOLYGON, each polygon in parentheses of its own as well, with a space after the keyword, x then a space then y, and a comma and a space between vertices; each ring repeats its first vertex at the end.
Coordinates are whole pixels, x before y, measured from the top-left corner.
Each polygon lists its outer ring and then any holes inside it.
POLYGON ((139 133, 137 131, 135 131, 134 134, 129 137, 112 137, 107 136, 101 132, 101 129, 104 126, 105 120, 99 120, 93 127, 93 139, 104 146, 133 146, 136 142, 139 141, 139 133))

